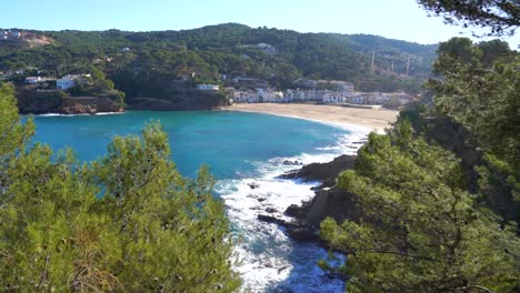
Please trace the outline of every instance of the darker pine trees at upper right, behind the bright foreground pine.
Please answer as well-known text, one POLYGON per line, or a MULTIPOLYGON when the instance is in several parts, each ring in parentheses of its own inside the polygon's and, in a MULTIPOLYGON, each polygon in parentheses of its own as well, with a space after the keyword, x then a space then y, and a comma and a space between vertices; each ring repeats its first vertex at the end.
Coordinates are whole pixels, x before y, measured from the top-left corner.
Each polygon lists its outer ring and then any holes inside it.
POLYGON ((434 64, 440 79, 428 87, 437 112, 460 122, 487 153, 477 168, 483 201, 519 221, 520 57, 500 41, 463 42, 463 49, 460 39, 440 46, 434 64))

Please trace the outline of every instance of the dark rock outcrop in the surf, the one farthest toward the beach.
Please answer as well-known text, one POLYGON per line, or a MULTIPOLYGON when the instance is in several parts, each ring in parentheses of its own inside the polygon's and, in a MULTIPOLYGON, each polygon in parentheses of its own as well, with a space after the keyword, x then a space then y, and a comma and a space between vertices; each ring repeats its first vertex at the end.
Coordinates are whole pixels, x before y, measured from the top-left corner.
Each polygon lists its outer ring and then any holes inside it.
POLYGON ((300 170, 289 171, 281 179, 303 179, 303 181, 322 181, 324 186, 333 186, 341 171, 352 169, 356 155, 340 155, 329 163, 312 163, 300 170))

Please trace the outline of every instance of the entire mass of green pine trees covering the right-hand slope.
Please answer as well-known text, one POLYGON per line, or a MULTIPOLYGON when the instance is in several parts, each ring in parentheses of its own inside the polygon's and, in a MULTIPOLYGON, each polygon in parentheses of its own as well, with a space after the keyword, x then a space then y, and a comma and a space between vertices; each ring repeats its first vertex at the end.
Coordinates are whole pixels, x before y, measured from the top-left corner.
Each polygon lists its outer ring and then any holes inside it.
POLYGON ((348 292, 520 290, 519 68, 502 41, 453 38, 424 100, 370 134, 338 178, 360 216, 321 223, 348 292))

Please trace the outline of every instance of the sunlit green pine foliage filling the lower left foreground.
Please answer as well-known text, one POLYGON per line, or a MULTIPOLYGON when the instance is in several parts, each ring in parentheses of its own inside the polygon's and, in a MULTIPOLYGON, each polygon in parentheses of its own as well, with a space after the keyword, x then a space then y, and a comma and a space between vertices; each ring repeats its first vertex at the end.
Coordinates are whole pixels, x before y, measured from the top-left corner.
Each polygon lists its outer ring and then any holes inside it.
POLYGON ((31 146, 33 130, 0 85, 1 292, 237 290, 213 180, 182 178, 158 124, 87 164, 31 146))

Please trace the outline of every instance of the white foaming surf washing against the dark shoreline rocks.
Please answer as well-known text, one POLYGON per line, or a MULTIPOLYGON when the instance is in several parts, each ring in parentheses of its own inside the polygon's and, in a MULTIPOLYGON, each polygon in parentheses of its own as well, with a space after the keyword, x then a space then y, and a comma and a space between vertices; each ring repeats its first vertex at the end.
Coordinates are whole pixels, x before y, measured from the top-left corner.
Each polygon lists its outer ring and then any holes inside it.
MULTIPOLYGON (((273 215, 291 221, 283 214, 291 204, 314 196, 312 186, 319 182, 282 180, 278 176, 299 166, 286 165, 284 161, 303 164, 328 162, 340 154, 354 154, 359 142, 368 131, 354 129, 339 135, 337 143, 302 153, 296 156, 272 158, 267 162, 256 162, 259 176, 239 180, 223 180, 217 192, 223 199, 233 231, 241 241, 236 245, 236 254, 241 264, 236 270, 241 274, 243 290, 252 292, 343 292, 344 283, 330 277, 317 266, 319 260, 329 253, 311 243, 289 239, 283 228, 258 220, 259 214, 273 215), (358 142, 357 144, 353 144, 358 142), (356 146, 356 148, 352 148, 356 146)), ((336 255, 341 260, 341 255, 336 255)))

